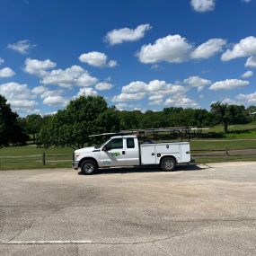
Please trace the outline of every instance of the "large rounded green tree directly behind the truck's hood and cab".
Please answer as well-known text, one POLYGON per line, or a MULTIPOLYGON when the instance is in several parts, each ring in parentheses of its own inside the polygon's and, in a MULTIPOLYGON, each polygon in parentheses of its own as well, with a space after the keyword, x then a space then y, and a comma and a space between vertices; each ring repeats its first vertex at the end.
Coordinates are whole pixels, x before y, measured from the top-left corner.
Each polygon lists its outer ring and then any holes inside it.
POLYGON ((118 130, 117 110, 108 108, 102 96, 81 96, 49 119, 49 126, 40 130, 39 139, 44 146, 81 148, 91 142, 92 134, 118 130))

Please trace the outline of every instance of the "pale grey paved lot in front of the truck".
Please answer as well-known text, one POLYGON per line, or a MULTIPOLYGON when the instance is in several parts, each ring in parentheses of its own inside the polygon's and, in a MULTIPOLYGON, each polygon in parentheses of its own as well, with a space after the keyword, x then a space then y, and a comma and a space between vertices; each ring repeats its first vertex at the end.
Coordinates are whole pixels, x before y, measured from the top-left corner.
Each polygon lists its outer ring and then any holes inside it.
POLYGON ((0 255, 256 255, 256 163, 0 172, 0 255))

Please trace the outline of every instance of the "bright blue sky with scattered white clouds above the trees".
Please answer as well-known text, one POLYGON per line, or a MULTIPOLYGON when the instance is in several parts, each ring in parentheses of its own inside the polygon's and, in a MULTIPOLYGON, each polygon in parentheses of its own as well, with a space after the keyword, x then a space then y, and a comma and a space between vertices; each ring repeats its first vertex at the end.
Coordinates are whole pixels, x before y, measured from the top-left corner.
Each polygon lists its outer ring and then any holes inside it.
POLYGON ((255 0, 2 0, 0 93, 25 116, 256 105, 255 0))

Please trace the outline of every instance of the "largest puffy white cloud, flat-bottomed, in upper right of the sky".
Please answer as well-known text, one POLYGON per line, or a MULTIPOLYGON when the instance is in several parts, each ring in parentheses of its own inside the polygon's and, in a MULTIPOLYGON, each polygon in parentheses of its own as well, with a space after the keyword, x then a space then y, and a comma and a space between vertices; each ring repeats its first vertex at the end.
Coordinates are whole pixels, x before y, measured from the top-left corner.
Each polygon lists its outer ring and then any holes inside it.
POLYGON ((180 35, 168 35, 158 39, 154 44, 142 46, 137 57, 142 63, 157 63, 166 61, 170 63, 181 63, 188 58, 192 46, 180 35))

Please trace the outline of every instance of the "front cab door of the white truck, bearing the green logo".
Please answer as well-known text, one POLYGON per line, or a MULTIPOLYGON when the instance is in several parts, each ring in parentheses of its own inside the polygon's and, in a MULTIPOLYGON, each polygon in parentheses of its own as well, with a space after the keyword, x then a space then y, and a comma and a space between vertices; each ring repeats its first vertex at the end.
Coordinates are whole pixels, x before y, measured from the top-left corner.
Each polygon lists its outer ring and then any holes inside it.
POLYGON ((124 139, 122 137, 112 138, 101 150, 102 167, 105 166, 125 166, 126 152, 124 148, 124 139))

